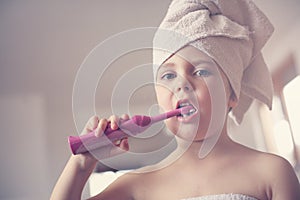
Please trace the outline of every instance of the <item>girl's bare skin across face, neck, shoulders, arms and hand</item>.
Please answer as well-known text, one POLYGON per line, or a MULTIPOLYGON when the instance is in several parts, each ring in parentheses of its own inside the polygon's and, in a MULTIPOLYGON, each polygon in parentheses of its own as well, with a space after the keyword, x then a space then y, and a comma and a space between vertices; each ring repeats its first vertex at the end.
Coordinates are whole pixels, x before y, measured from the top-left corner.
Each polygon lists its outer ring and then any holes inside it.
MULTIPOLYGON (((179 159, 167 167, 145 173, 125 174, 91 199, 160 200, 224 193, 245 194, 260 200, 300 199, 299 182, 292 166, 285 159, 235 143, 227 134, 226 123, 221 124, 220 135, 213 131, 207 133, 209 123, 212 122, 213 106, 209 87, 214 84, 214 76, 217 75, 207 73, 204 69, 218 69, 210 57, 199 51, 195 53, 192 47, 185 47, 169 58, 164 66, 159 69, 157 76, 156 93, 159 105, 171 110, 176 108, 178 99, 183 98, 189 99, 193 105, 197 104, 195 116, 200 116, 200 121, 197 117, 188 122, 181 122, 178 118, 166 121, 167 127, 176 134, 178 149, 183 148, 187 142, 190 146, 179 159), (198 61, 195 62, 199 65, 191 60, 187 62, 179 56, 180 53, 196 56, 201 64, 198 61), (179 131, 180 126, 184 126, 185 131, 179 131), (191 130, 194 132, 190 133, 191 130), (199 159, 201 146, 216 136, 219 139, 212 151, 199 159)), ((219 72, 224 84, 225 106, 228 111, 236 106, 237 100, 225 75, 221 70, 219 72)), ((123 118, 127 119, 128 116, 123 118)), ((108 121, 113 128, 117 128, 119 118, 112 116, 108 120, 92 118, 85 130, 97 128, 97 133, 101 135, 108 121)), ((118 146, 123 150, 129 148, 127 140, 121 141, 118 146)), ((90 154, 71 156, 51 199, 80 199, 83 186, 96 162, 90 154)))

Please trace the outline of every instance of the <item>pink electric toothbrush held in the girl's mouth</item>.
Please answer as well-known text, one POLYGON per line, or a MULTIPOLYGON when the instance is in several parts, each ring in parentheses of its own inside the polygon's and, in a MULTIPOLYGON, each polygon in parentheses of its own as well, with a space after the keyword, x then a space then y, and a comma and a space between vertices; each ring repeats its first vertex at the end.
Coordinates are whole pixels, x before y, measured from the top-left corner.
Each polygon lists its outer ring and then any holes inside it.
POLYGON ((121 122, 119 129, 117 130, 112 130, 108 124, 103 136, 96 137, 94 131, 92 131, 81 136, 69 136, 68 142, 74 155, 85 153, 106 145, 111 145, 113 141, 128 137, 129 135, 126 133, 130 133, 132 135, 142 133, 156 122, 178 116, 180 114, 187 114, 191 109, 193 109, 192 106, 185 106, 153 117, 135 115, 130 120, 121 122), (108 140, 104 139, 104 137, 108 138, 108 140))

